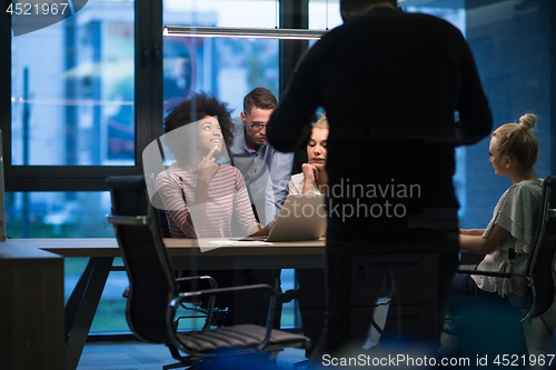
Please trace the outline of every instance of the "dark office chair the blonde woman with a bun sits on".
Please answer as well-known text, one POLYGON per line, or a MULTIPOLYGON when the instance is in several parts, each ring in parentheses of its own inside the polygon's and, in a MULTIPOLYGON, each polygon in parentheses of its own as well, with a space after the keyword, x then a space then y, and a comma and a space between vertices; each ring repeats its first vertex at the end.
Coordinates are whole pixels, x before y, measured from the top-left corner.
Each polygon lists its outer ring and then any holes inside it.
MULTIPOLYGON (((556 177, 549 176, 544 180, 543 184, 543 203, 540 209, 540 222, 538 224, 537 233, 533 243, 533 252, 527 266, 525 274, 505 273, 505 272, 488 272, 476 270, 458 270, 458 272, 469 274, 483 274, 489 277, 499 277, 503 279, 525 279, 528 286, 527 304, 524 309, 518 309, 509 303, 504 298, 487 299, 477 298, 469 302, 469 308, 474 304, 483 303, 483 308, 488 310, 496 310, 486 320, 496 321, 495 324, 507 326, 504 322, 506 319, 500 312, 506 312, 512 320, 518 323, 525 322, 533 318, 539 318, 544 326, 552 333, 550 328, 542 317, 554 306, 556 298, 556 280, 555 280, 555 261, 556 261, 556 177)), ((473 320, 473 319, 469 319, 473 320)), ((465 321, 465 324, 470 324, 470 321, 465 321)), ((473 324, 473 323, 471 323, 473 324)), ((461 336, 461 328, 457 326, 458 336, 461 336)), ((517 328, 517 327, 516 327, 517 328)), ((453 330, 448 333, 457 334, 453 330)), ((522 327, 516 329, 516 336, 523 337, 522 346, 525 343, 525 336, 522 327), (520 333, 517 333, 520 330, 520 333)), ((475 338, 476 339, 476 338, 475 338)), ((473 340, 475 340, 473 339, 473 340)), ((526 344, 525 344, 526 346, 526 344)))

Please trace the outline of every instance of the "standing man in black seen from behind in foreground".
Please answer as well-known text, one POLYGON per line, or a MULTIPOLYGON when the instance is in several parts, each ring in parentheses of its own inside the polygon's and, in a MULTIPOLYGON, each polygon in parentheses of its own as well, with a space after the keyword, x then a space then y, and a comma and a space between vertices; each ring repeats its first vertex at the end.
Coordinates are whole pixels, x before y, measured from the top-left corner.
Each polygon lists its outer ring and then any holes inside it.
POLYGON ((378 282, 389 274, 401 318, 396 334, 435 346, 457 268, 454 147, 492 128, 459 30, 396 6, 340 0, 344 24, 305 54, 268 123, 269 142, 292 151, 315 109, 329 121, 328 322, 317 356, 360 348, 378 282), (407 268, 419 258, 420 268, 407 268), (405 311, 421 297, 420 313, 405 311))

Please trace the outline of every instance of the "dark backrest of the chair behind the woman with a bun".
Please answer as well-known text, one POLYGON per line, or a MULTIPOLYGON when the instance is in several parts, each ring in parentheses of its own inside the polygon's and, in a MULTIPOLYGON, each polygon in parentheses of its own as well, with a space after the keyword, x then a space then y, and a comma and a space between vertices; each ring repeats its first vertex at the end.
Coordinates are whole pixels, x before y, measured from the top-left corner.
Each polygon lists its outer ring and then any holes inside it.
POLYGON ((532 304, 524 320, 548 311, 556 298, 556 177, 544 180, 540 223, 529 262, 528 276, 533 280, 532 304))

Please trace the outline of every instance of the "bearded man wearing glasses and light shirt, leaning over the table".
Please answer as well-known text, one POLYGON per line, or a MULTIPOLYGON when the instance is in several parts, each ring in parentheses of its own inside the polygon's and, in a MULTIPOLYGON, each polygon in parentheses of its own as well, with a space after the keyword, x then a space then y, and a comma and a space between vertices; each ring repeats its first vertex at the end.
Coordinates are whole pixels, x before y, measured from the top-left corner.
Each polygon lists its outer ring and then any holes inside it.
POLYGON ((256 88, 244 99, 241 118, 235 120, 230 148, 232 164, 244 174, 251 204, 261 224, 270 226, 288 196, 292 153, 281 153, 267 143, 267 122, 278 102, 270 90, 256 88))

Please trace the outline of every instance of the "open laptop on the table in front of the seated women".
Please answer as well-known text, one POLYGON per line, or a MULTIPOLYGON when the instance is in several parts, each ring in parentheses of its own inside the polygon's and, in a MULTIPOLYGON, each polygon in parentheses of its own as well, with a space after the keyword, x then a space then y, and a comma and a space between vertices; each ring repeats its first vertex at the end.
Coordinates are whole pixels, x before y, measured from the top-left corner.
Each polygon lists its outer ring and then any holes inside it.
POLYGON ((290 194, 268 237, 246 237, 240 240, 304 241, 317 240, 326 230, 325 196, 290 194))

